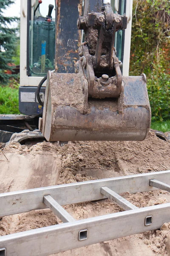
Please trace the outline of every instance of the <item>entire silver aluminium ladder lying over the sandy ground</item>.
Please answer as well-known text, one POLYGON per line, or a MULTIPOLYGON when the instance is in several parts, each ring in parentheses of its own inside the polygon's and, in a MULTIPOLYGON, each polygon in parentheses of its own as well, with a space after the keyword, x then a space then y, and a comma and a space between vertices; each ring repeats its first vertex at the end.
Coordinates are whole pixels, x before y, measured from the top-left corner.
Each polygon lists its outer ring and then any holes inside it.
POLYGON ((47 256, 160 228, 170 203, 138 208, 119 194, 155 189, 170 192, 170 170, 0 194, 0 217, 50 208, 62 224, 0 237, 0 256, 47 256), (123 212, 75 220, 62 205, 109 198, 123 212), (160 218, 161 217, 161 218, 160 218))

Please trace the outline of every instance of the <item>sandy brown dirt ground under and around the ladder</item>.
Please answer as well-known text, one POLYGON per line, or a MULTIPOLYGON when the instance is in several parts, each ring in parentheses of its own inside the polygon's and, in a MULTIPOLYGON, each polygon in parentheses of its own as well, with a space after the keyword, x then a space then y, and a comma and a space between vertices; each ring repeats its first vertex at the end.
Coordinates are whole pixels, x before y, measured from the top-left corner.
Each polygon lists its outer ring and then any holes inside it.
MULTIPOLYGON (((30 148, 13 143, 0 152, 0 193, 122 175, 170 169, 170 143, 149 132, 143 142, 37 143, 30 148)), ((124 193, 137 207, 170 202, 170 193, 124 193)), ((122 211, 108 199, 64 207, 78 219, 122 211)), ((0 219, 0 235, 60 223, 49 210, 37 210, 0 219)), ((56 254, 55 254, 56 255, 56 254)), ((170 255, 170 223, 160 230, 93 244, 58 256, 170 255)))

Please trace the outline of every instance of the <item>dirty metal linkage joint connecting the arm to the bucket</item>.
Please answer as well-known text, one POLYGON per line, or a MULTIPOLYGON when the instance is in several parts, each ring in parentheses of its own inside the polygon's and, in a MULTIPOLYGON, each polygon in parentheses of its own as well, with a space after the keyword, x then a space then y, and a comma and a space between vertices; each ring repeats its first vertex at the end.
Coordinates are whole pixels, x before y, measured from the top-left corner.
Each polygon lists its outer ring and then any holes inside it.
POLYGON ((88 80, 88 96, 98 99, 117 98, 122 87, 122 62, 116 57, 114 38, 125 17, 114 14, 108 5, 103 10, 78 20, 78 27, 85 28, 87 41, 79 48, 82 75, 88 80))

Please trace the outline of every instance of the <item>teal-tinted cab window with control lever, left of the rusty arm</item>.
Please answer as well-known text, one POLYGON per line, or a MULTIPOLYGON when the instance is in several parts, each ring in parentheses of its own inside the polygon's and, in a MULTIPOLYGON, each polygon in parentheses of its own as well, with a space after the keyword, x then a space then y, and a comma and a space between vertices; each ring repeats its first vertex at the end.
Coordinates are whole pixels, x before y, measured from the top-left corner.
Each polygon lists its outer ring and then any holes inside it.
MULTIPOLYGON (((54 5, 49 4, 46 17, 41 15, 41 2, 37 4, 30 20, 29 35, 29 74, 45 76, 48 70, 54 70, 55 55, 55 19, 52 19, 54 5), (38 11, 40 9, 40 12, 38 11)), ((47 11, 46 11, 47 12, 47 11)))

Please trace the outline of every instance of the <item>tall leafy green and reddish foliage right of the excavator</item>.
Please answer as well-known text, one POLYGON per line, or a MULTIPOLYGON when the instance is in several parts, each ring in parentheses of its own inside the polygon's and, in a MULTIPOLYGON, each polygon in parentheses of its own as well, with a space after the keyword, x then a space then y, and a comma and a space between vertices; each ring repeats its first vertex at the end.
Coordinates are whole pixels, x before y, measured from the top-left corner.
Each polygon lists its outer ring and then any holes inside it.
POLYGON ((130 75, 147 75, 152 120, 170 119, 170 1, 133 1, 130 75))

